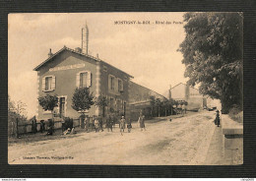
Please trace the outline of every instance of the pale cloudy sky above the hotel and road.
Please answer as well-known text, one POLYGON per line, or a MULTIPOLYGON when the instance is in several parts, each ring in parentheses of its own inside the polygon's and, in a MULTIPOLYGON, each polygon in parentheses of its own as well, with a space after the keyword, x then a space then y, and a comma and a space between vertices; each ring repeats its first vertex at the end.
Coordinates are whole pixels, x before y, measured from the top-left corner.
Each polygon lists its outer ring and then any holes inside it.
POLYGON ((89 28, 89 54, 132 75, 135 83, 163 94, 186 83, 182 54, 183 13, 27 13, 8 16, 8 93, 37 106, 36 72, 32 71, 64 45, 81 47, 81 29, 89 28), (115 24, 115 22, 118 24, 115 24), (122 24, 136 21, 137 24, 122 24), (150 21, 150 24, 138 24, 150 21), (164 22, 164 24, 157 24, 164 22), (166 24, 166 22, 170 24, 166 24))

